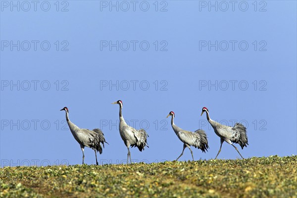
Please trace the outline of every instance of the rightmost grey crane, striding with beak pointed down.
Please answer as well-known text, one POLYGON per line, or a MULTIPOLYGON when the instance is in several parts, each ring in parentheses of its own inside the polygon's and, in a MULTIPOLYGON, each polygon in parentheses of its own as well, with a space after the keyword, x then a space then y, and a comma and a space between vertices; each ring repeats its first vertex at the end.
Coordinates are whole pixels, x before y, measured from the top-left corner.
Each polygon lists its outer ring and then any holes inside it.
POLYGON ((220 147, 220 149, 218 151, 218 154, 216 155, 215 159, 217 158, 217 156, 221 152, 221 148, 222 148, 222 145, 223 145, 224 142, 227 142, 228 144, 232 145, 238 151, 240 156, 242 158, 244 158, 241 155, 241 153, 239 152, 239 150, 233 145, 233 143, 239 144, 242 149, 244 147, 247 147, 247 145, 248 145, 248 143, 247 143, 247 128, 244 125, 240 124, 240 123, 236 123, 234 125, 234 127, 230 127, 230 126, 220 124, 220 123, 210 119, 209 112, 208 112, 208 109, 206 107, 202 108, 201 115, 204 112, 206 112, 207 120, 210 123, 210 125, 212 126, 215 134, 221 138, 221 147, 220 147))

